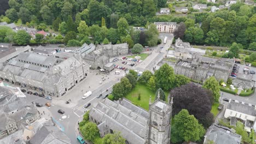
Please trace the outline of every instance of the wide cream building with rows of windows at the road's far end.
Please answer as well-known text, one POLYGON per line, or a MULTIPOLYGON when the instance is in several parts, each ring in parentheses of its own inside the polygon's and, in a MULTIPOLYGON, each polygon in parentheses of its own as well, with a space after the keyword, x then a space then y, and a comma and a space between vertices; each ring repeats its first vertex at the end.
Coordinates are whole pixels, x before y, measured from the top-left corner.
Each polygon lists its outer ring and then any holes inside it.
POLYGON ((154 22, 159 33, 173 33, 178 27, 176 22, 154 22))

